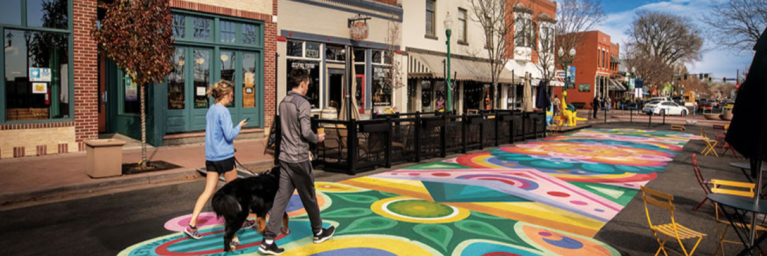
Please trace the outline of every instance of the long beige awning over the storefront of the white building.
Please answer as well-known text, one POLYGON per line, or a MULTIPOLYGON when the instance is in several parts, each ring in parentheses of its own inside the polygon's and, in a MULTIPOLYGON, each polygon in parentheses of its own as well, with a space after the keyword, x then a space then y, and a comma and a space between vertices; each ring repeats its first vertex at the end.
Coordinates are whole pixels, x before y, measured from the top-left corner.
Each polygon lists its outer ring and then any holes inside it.
MULTIPOLYGON (((408 53, 408 78, 436 78, 445 79, 442 61, 446 56, 439 56, 425 53, 408 53)), ((458 73, 454 77, 456 81, 478 81, 491 83, 492 72, 489 61, 474 60, 465 58, 450 59, 451 75, 458 73)), ((521 82, 522 78, 517 77, 513 82, 521 82)), ((512 74, 506 68, 501 71, 498 78, 499 83, 512 83, 512 74)))

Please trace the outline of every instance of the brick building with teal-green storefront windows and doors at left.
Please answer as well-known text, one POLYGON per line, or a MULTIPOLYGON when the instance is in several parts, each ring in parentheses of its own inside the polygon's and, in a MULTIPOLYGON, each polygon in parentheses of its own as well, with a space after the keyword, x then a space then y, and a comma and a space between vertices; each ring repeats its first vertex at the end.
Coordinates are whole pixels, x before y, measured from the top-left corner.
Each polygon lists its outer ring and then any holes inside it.
MULTIPOLYGON (((33 6, 39 3, 26 0, 18 1, 18 5, 14 2, 4 6, 19 8, 21 14, 18 17, 0 19, 0 31, 4 35, 3 44, 6 49, 4 53, 0 53, 0 74, 5 78, 0 81, 0 97, 4 102, 0 104, 0 158, 82 151, 83 142, 98 138, 100 132, 117 132, 140 138, 136 136, 136 131, 140 130, 139 124, 135 122, 137 113, 129 113, 129 105, 133 102, 128 102, 128 99, 135 99, 135 90, 132 90, 135 87, 131 87, 130 81, 125 81, 122 72, 116 70, 113 63, 99 56, 98 46, 90 36, 92 21, 100 18, 100 12, 103 12, 97 7, 98 1, 63 1, 66 6, 56 10, 33 6), (43 13, 58 11, 71 19, 64 18, 61 23, 44 18, 40 18, 40 21, 34 13, 21 12, 24 5, 27 10, 37 8, 43 13), (46 29, 40 29, 41 27, 46 29), (60 50, 60 53, 35 50, 36 47, 40 48, 41 43, 50 44, 44 41, 44 36, 38 37, 47 34, 67 39, 60 41, 64 42, 59 43, 60 45, 51 46, 60 50), (24 51, 27 54, 26 58, 21 54, 24 51), (44 54, 48 55, 42 56, 44 54), (25 71, 28 71, 26 76, 25 71), (38 79, 34 77, 37 72, 53 75, 47 79, 38 79)), ((191 42, 189 44, 195 43, 193 40, 198 40, 196 37, 187 36, 188 40, 177 38, 177 50, 183 48, 183 51, 188 53, 205 53, 207 60, 210 60, 211 53, 229 52, 234 54, 232 56, 253 60, 252 63, 245 63, 243 60, 228 69, 223 67, 223 61, 221 66, 217 61, 208 61, 210 64, 207 66, 207 80, 200 84, 195 81, 195 86, 210 85, 219 78, 227 79, 224 71, 231 71, 231 74, 228 74, 229 79, 238 81, 238 88, 242 87, 243 95, 237 96, 239 102, 243 102, 242 98, 246 97, 247 93, 253 94, 252 97, 255 98, 255 104, 252 106, 241 105, 233 108, 233 116, 253 117, 255 121, 251 120, 250 123, 256 126, 256 130, 269 126, 274 115, 278 0, 170 0, 170 5, 174 16, 184 17, 178 20, 189 21, 188 28, 201 21, 200 24, 206 25, 205 29, 208 29, 209 34, 206 40, 202 40, 207 45, 199 46, 200 44, 196 43, 196 48, 185 45, 186 41, 191 42), (194 24, 191 24, 192 22, 194 24), (230 24, 231 31, 218 30, 221 26, 230 24), (226 40, 219 40, 224 32, 232 34, 231 42, 222 43, 226 40), (246 42, 246 38, 253 40, 246 42), (222 72, 216 74, 219 70, 222 72), (250 85, 252 89, 246 90, 244 87, 247 84, 243 83, 249 78, 255 81, 250 85)), ((39 17, 44 17, 43 13, 39 17)), ((183 65, 183 62, 181 63, 183 65)), ((196 72, 191 68, 188 71, 196 72)), ((195 79, 192 74, 187 77, 195 79)), ((163 137, 167 134, 200 131, 199 125, 193 123, 196 118, 194 114, 181 114, 181 118, 186 119, 187 123, 174 126, 176 123, 173 123, 173 120, 178 117, 174 117, 173 111, 168 109, 168 87, 166 83, 148 86, 147 90, 148 142, 156 146, 162 145, 163 137)), ((191 87, 187 88, 182 84, 181 89, 183 93, 188 94, 187 96, 192 95, 191 87)), ((185 111, 194 111, 189 107, 191 102, 185 104, 185 111)))

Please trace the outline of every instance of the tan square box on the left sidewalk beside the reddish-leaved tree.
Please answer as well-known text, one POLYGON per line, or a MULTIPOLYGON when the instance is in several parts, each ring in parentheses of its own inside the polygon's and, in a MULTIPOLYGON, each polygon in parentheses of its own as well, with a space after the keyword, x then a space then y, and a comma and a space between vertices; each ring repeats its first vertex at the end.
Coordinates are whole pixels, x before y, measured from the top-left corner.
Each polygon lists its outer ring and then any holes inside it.
POLYGON ((125 141, 116 139, 85 141, 85 172, 91 178, 122 175, 122 147, 125 141))

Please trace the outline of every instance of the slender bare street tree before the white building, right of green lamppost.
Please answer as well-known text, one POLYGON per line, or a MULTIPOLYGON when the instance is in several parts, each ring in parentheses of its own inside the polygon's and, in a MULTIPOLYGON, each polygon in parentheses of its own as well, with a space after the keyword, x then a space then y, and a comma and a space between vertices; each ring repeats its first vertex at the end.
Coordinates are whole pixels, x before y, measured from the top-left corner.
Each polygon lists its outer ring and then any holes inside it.
POLYGON ((485 49, 490 59, 493 84, 492 106, 500 108, 498 99, 498 78, 510 60, 511 44, 506 39, 513 38, 514 20, 511 16, 512 1, 506 0, 471 0, 472 19, 482 26, 485 35, 485 49), (508 4, 508 5, 507 5, 508 4))

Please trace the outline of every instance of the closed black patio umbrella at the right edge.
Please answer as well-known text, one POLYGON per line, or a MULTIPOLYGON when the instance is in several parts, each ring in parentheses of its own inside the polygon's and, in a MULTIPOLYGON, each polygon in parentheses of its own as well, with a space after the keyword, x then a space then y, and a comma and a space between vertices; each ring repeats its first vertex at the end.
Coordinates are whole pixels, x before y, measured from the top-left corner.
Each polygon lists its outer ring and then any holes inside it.
MULTIPOLYGON (((762 194, 762 161, 767 160, 767 29, 762 32, 754 46, 756 54, 746 81, 740 85, 733 118, 725 141, 751 162, 751 176, 756 177, 755 204, 762 194)), ((756 214, 751 216, 755 223, 756 214)), ((756 237, 756 226, 751 228, 751 245, 756 237)))

